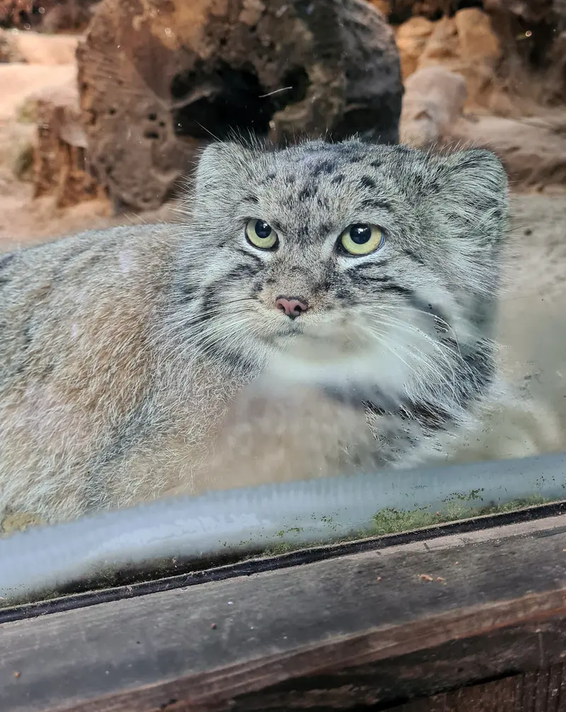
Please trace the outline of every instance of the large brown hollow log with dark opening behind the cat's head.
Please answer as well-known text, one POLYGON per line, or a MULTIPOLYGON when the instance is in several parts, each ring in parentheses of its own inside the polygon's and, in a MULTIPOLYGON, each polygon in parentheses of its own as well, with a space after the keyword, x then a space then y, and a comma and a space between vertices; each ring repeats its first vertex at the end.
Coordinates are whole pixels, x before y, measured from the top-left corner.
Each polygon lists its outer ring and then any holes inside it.
POLYGON ((211 137, 397 142, 397 48, 364 0, 102 0, 77 56, 93 175, 135 209, 211 137))

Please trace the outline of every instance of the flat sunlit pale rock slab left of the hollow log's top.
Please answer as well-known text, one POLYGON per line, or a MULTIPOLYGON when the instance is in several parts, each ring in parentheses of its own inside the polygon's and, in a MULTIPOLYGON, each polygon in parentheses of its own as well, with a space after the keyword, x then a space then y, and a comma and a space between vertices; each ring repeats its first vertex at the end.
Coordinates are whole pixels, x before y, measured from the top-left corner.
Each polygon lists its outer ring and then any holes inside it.
POLYGON ((78 38, 0 29, 0 60, 28 64, 72 64, 78 38))

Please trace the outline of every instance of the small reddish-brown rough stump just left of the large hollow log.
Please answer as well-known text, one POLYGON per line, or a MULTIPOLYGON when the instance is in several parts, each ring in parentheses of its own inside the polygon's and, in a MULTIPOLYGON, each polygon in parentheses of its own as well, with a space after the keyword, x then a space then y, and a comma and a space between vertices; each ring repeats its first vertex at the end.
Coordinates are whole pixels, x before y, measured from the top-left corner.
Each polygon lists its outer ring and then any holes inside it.
POLYGON ((76 82, 46 88, 31 98, 38 126, 33 155, 33 197, 54 194, 57 207, 103 197, 86 169, 86 137, 78 117, 76 82))

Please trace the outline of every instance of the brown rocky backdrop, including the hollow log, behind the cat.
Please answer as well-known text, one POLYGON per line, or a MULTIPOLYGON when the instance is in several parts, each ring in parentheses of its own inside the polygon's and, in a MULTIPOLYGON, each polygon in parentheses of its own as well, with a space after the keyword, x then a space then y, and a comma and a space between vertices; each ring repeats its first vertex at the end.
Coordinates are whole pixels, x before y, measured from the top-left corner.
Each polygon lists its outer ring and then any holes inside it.
POLYGON ((231 130, 483 145, 562 191, 566 0, 372 4, 0 0, 0 249, 169 219, 231 130))

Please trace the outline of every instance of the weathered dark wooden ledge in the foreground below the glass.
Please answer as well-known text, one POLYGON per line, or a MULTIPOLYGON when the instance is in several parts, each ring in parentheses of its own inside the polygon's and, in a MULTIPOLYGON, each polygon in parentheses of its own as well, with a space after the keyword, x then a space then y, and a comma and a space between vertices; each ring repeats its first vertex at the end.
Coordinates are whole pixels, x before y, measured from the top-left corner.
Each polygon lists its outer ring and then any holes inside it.
POLYGON ((565 550, 561 515, 6 623, 0 709, 347 709, 550 666, 565 550))

